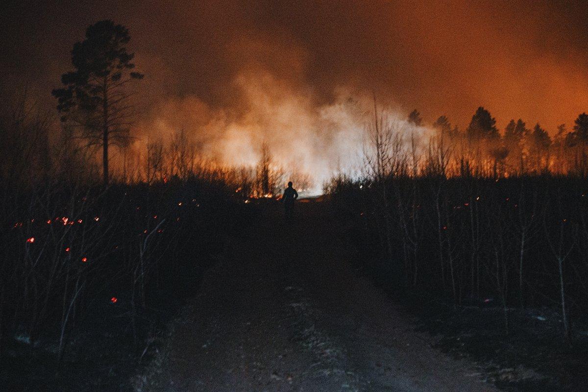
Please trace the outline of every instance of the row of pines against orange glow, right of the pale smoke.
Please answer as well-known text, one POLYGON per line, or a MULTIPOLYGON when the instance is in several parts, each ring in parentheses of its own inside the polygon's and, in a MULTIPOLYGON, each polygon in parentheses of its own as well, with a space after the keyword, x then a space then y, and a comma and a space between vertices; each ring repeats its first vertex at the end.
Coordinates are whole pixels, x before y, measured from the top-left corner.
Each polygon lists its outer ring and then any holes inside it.
MULTIPOLYGON (((422 126, 415 109, 408 122, 422 126)), ((588 175, 588 114, 581 113, 572 129, 557 126, 553 136, 539 123, 529 127, 512 119, 503 132, 496 119, 480 106, 465 130, 440 116, 430 126, 425 155, 419 160, 419 175, 513 177, 523 175, 588 175)), ((410 132, 404 130, 403 132, 410 132)))

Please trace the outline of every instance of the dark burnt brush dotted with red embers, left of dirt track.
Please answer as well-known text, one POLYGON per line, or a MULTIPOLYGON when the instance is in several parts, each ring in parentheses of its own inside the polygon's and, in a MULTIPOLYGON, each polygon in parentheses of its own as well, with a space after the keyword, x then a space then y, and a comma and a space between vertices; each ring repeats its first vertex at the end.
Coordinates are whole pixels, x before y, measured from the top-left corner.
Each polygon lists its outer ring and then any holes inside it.
POLYGON ((242 202, 229 195, 225 184, 198 177, 2 195, 0 383, 9 390, 128 383, 239 228, 242 202))

